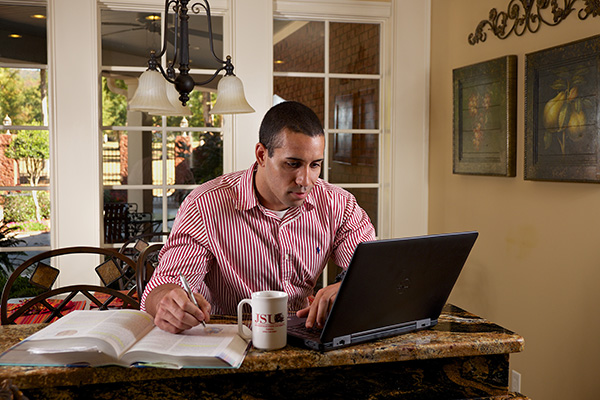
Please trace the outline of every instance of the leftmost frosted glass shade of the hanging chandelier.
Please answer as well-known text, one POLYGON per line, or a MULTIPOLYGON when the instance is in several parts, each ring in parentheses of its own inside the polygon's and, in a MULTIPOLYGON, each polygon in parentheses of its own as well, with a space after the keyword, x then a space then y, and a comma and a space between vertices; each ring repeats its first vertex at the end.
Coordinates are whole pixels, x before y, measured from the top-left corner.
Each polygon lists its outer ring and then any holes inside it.
POLYGON ((129 102, 129 111, 155 112, 172 109, 173 105, 167 98, 165 82, 160 72, 144 71, 140 76, 138 88, 129 102))

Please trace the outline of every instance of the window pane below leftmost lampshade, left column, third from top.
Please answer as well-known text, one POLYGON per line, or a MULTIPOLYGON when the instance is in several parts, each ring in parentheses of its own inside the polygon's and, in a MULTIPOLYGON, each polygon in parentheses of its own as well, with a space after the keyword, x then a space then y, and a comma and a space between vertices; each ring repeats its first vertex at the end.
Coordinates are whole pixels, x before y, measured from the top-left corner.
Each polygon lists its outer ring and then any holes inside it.
POLYGON ((162 135, 156 131, 104 131, 104 185, 162 184, 162 135))

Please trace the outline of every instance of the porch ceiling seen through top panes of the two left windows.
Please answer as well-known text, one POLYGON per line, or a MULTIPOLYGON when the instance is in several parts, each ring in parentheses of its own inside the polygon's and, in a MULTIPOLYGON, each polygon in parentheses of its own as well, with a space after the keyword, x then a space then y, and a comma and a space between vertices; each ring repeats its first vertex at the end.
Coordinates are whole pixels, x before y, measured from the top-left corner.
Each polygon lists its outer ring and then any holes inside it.
MULTIPOLYGON (((0 5, 0 62, 47 63, 46 19, 33 17, 45 14, 46 7, 0 5)), ((101 18, 102 65, 144 67, 147 65, 150 50, 158 53, 163 45, 160 37, 160 15, 103 10, 101 18)), ((172 58, 172 14, 169 22, 171 34, 167 35, 170 43, 167 56, 172 58)), ((222 59, 222 17, 212 17, 212 29, 214 50, 222 59)), ((216 69, 221 66, 211 54, 208 38, 206 16, 190 13, 189 48, 192 68, 216 69)))

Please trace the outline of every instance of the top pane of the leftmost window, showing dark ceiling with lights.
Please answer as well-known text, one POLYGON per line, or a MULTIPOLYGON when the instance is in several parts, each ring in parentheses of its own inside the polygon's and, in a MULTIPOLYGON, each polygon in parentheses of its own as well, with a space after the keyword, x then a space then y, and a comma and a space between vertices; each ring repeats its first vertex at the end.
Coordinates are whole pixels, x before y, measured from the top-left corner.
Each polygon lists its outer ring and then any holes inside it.
POLYGON ((0 62, 47 64, 45 6, 0 5, 0 62))

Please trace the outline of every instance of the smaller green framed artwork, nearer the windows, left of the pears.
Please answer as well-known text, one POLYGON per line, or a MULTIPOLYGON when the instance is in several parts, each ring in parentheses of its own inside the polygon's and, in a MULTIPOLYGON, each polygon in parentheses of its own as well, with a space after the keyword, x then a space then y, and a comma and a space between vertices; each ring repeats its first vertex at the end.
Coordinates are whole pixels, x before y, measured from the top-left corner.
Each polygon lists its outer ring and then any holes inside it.
POLYGON ((452 172, 516 175, 517 56, 452 71, 452 172))

